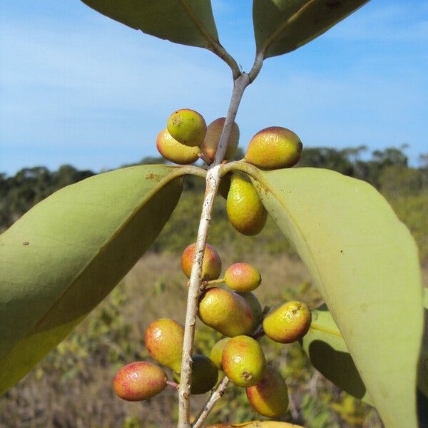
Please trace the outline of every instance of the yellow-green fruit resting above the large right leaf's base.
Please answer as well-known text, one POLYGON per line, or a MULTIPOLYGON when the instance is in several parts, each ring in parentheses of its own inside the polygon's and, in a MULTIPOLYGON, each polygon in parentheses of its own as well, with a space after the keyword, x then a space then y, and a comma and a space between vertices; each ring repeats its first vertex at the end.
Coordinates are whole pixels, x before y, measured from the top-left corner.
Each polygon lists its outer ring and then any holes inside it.
POLYGON ((287 128, 271 126, 251 138, 245 161, 259 168, 290 168, 300 160, 302 141, 287 128))

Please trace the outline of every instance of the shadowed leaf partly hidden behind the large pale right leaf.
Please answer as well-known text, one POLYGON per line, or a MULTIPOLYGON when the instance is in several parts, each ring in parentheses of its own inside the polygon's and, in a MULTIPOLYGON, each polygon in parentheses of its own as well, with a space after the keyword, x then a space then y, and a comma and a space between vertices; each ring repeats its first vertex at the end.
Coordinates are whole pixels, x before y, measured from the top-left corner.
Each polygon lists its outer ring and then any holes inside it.
POLYGON ((324 377, 349 394, 372 404, 355 362, 326 305, 312 309, 310 330, 302 338, 302 347, 312 365, 324 377))

